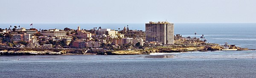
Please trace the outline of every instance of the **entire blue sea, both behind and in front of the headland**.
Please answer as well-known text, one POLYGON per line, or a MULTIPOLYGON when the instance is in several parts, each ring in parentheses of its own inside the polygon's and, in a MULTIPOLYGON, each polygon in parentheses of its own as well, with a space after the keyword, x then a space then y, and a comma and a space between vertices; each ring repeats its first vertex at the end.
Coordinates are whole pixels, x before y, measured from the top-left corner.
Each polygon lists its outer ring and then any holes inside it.
MULTIPOLYGON (((29 28, 29 24, 0 24, 29 28)), ((111 28, 145 31, 145 24, 37 24, 37 29, 111 28)), ((209 43, 256 49, 256 23, 175 23, 175 34, 204 34, 209 43)), ((155 53, 152 55, 0 56, 0 78, 254 78, 256 51, 155 53), (169 58, 166 58, 168 56, 169 58), (154 58, 158 57, 158 58, 154 58), (165 58, 163 58, 165 57, 165 58), (17 61, 20 59, 20 61, 17 61)))

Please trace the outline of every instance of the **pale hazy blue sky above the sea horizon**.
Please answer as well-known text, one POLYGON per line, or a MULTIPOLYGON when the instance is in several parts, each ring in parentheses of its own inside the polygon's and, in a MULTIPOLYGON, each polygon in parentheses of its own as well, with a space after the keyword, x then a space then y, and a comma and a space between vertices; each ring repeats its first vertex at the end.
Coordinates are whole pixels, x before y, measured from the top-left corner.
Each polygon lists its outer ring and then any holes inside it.
POLYGON ((0 23, 256 23, 256 0, 0 0, 0 23))

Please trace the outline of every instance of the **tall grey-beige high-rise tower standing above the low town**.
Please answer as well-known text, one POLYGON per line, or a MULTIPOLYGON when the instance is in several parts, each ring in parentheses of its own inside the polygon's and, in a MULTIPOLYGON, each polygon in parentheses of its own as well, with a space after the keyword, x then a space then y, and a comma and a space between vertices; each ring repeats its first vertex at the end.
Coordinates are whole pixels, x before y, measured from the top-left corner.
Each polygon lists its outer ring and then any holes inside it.
POLYGON ((149 22, 145 24, 146 41, 157 41, 162 45, 174 44, 174 23, 149 22))

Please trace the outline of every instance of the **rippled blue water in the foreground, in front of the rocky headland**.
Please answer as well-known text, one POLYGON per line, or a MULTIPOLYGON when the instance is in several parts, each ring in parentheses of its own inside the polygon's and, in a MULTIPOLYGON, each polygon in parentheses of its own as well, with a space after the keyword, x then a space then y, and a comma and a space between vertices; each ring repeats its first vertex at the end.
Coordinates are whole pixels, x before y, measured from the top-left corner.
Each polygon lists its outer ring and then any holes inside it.
POLYGON ((0 78, 253 78, 255 58, 256 51, 0 56, 0 78), (155 55, 173 57, 147 58, 155 55))

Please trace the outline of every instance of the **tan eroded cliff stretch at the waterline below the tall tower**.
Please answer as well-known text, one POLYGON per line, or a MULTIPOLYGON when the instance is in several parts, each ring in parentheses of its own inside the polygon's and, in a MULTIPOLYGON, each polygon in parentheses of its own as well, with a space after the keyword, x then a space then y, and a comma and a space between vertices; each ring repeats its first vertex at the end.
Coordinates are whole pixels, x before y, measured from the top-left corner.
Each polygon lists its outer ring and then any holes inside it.
POLYGON ((221 50, 221 46, 161 46, 151 47, 144 50, 130 50, 130 51, 110 51, 101 52, 98 55, 145 55, 154 52, 189 52, 189 51, 217 51, 221 50))

